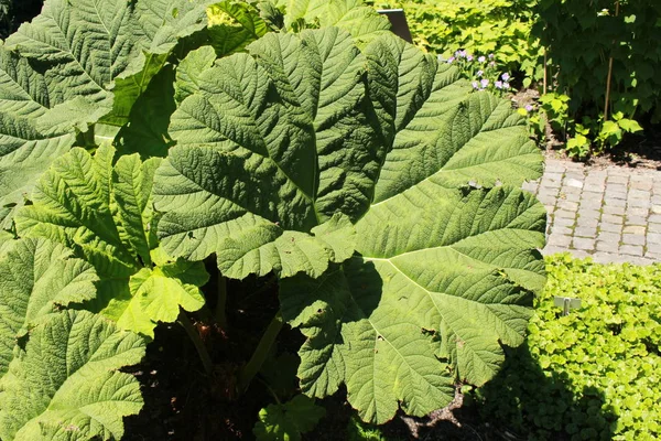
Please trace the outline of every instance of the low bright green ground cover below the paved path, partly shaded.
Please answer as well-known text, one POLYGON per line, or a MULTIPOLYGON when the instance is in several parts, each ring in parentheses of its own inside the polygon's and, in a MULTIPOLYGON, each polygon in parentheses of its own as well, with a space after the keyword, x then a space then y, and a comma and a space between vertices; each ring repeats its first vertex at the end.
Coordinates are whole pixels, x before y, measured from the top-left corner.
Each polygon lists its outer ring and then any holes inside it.
POLYGON ((661 266, 557 255, 548 271, 529 353, 517 351, 499 379, 478 389, 483 416, 529 439, 658 439, 661 266), (579 298, 582 308, 560 316, 554 295, 579 298))

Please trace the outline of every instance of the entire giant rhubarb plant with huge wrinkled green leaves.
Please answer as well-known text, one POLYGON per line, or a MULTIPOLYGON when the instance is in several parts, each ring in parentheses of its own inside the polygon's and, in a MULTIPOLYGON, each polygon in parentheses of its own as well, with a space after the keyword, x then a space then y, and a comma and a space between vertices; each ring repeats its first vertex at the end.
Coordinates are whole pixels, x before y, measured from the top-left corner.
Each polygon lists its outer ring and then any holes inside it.
MULTIPOLYGON (((545 212, 519 190, 541 155, 508 103, 387 28, 355 0, 46 0, 8 39, 3 440, 121 438, 142 400, 118 369, 159 322, 210 373, 184 311, 212 256, 220 280, 279 280, 241 390, 283 321, 306 337, 300 390, 344 384, 366 421, 496 374, 544 283, 545 212)), ((301 415, 296 433, 322 413, 301 415)))

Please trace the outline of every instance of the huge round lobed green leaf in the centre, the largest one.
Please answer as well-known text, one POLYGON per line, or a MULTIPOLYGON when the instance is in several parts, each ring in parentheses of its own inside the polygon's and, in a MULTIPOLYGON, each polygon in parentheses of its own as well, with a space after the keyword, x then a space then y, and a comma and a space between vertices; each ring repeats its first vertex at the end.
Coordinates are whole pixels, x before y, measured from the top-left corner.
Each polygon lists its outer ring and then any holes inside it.
POLYGON ((544 283, 545 212, 518 190, 542 171, 523 119, 391 35, 360 52, 329 28, 248 51, 205 71, 173 115, 154 197, 163 246, 263 273, 278 239, 340 213, 354 257, 321 277, 297 265, 281 284, 283 316, 308 337, 303 390, 344 383, 384 422, 487 381, 544 283))

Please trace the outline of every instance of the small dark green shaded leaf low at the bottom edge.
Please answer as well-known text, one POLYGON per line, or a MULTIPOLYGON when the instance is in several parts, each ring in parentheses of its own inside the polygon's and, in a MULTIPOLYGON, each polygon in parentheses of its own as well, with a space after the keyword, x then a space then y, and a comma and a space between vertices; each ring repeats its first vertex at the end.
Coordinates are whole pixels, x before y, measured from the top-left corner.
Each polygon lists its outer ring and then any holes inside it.
POLYGON ((269 405, 259 411, 252 430, 258 441, 300 441, 326 415, 314 399, 296 395, 285 404, 269 405))

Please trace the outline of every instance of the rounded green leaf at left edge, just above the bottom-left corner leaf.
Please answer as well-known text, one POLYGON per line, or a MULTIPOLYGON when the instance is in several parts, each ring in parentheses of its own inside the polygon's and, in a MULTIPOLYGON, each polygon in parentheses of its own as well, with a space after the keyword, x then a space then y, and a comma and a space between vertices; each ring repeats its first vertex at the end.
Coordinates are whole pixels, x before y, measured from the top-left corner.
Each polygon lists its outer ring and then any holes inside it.
POLYGON ((13 358, 17 337, 57 306, 96 295, 94 268, 45 239, 8 243, 0 252, 0 376, 13 358))

